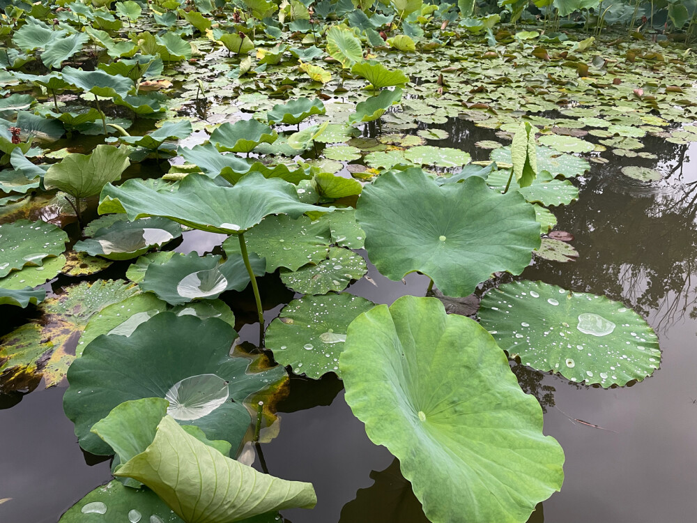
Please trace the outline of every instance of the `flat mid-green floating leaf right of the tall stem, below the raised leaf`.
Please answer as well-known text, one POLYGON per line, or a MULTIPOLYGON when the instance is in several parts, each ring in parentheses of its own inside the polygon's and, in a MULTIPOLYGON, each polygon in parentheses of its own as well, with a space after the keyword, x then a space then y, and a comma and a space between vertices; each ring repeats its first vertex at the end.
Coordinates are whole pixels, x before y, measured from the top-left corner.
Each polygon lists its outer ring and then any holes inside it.
MULTIPOLYGON (((247 249, 266 258, 266 271, 279 267, 297 271, 305 264, 317 264, 327 257, 332 243, 325 220, 313 222, 307 216, 293 220, 285 215, 268 216, 245 234, 247 249)), ((240 242, 231 236, 222 244, 228 256, 240 255, 240 242)))

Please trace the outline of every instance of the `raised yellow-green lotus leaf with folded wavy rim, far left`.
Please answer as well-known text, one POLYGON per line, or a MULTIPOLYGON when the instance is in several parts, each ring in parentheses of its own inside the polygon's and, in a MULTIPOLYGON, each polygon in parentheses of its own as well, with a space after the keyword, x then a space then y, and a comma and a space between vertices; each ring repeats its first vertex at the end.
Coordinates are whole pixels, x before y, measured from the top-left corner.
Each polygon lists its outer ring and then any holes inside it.
POLYGON ((105 184, 121 178, 130 165, 128 155, 127 149, 112 145, 98 145, 90 154, 72 153, 48 168, 44 183, 77 198, 98 195, 105 184))

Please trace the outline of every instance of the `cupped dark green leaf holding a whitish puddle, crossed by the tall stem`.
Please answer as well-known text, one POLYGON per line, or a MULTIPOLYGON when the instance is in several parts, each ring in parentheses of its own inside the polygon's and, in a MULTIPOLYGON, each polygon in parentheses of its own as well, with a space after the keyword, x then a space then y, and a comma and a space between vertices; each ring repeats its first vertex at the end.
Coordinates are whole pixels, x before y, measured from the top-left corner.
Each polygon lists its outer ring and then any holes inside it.
MULTIPOLYGON (((174 255, 164 264, 148 265, 145 278, 138 285, 172 305, 212 300, 224 291, 245 289, 250 275, 242 255, 231 255, 224 263, 220 259, 217 255, 199 257, 196 252, 174 255)), ((255 274, 263 275, 266 266, 263 259, 252 256, 250 263, 255 274)))

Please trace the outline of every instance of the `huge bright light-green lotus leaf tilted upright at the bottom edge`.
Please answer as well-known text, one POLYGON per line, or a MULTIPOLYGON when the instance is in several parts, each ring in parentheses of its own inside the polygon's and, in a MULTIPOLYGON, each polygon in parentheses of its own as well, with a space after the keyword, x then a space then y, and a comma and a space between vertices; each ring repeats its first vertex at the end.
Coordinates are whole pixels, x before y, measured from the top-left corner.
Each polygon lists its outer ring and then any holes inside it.
POLYGON ((560 490, 562 448, 475 321, 403 296, 356 318, 345 345, 346 402, 431 522, 523 523, 560 490))

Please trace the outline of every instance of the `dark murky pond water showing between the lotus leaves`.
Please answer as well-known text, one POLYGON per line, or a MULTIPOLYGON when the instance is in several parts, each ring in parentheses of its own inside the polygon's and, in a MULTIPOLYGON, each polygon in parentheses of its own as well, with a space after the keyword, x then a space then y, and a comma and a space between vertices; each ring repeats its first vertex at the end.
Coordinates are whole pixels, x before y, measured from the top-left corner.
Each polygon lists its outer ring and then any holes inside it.
MULTIPOLYGON (((472 144, 493 132, 454 119, 440 126, 452 143, 473 155, 472 144)), ((443 146, 443 142, 439 143, 443 146)), ((696 146, 645 138, 656 160, 640 165, 664 173, 646 185, 622 176, 622 159, 604 153, 606 164, 574 181, 578 202, 555 208, 556 229, 575 236, 579 258, 568 264, 537 260, 521 275, 574 291, 604 294, 648 319, 661 342, 661 368, 641 384, 604 390, 572 384, 514 364, 523 389, 546 411, 544 432, 566 454, 562 491, 538 506, 531 522, 688 522, 697 517, 697 158, 696 146), (691 160, 693 160, 691 162, 691 160), (693 276, 696 280, 691 280, 693 276)), ((187 232, 179 252, 218 252, 224 236, 187 232)), ((108 277, 123 268, 108 269, 108 277)), ((120 271, 120 272, 119 272, 120 271)), ((100 274, 103 278, 105 273, 100 274)), ((423 296, 428 278, 411 274, 392 282, 370 266, 369 277, 348 291, 376 303, 404 294, 423 296)), ((261 280, 273 319, 293 298, 277 275, 261 280)), ((238 319, 241 338, 256 342, 252 294, 222 296, 238 319)), ((24 317, 3 320, 3 333, 24 317)), ((96 485, 111 478, 109 463, 80 450, 63 414, 63 386, 39 386, 26 395, 0 397, 0 521, 53 523, 96 485)), ((278 437, 263 445, 268 471, 314 484, 314 510, 287 510, 293 523, 426 522, 410 485, 392 455, 372 444, 364 425, 344 401, 341 381, 293 377, 279 405, 278 437)), ((255 466, 259 466, 256 460, 255 466)))

